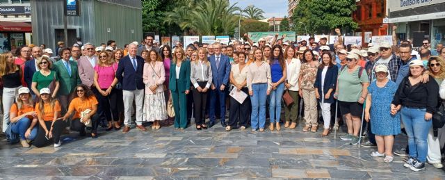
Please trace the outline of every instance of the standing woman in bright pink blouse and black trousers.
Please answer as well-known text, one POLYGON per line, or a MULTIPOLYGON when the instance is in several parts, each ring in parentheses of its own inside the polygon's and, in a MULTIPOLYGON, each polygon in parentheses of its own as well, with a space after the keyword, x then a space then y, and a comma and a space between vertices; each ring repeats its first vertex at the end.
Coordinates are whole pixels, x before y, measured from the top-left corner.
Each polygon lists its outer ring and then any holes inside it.
POLYGON ((95 66, 94 83, 98 95, 97 99, 101 104, 102 112, 105 114, 108 121, 108 127, 105 131, 115 129, 118 131, 120 126, 118 125, 118 94, 115 90, 115 85, 118 83, 118 79, 115 77, 116 69, 118 69, 118 63, 115 63, 108 53, 102 52, 99 54, 99 60, 95 66))

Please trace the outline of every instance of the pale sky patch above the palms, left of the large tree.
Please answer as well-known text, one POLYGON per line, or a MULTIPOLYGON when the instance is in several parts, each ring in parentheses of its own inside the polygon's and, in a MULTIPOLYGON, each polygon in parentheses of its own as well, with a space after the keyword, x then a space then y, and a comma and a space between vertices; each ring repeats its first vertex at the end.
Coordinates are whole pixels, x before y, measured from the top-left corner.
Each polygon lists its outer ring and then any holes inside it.
POLYGON ((264 17, 284 17, 287 16, 287 0, 229 0, 230 3, 237 3, 236 6, 245 8, 254 5, 264 11, 264 17))

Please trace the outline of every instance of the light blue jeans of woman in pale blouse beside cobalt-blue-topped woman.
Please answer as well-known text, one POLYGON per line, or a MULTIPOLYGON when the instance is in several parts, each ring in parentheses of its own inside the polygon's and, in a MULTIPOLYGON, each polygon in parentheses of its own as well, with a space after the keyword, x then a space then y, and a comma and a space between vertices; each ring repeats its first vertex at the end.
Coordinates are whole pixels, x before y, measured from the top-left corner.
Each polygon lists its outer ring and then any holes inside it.
POLYGON ((252 84, 253 96, 252 114, 250 115, 250 124, 252 129, 263 128, 266 124, 266 99, 267 99, 267 83, 252 84))

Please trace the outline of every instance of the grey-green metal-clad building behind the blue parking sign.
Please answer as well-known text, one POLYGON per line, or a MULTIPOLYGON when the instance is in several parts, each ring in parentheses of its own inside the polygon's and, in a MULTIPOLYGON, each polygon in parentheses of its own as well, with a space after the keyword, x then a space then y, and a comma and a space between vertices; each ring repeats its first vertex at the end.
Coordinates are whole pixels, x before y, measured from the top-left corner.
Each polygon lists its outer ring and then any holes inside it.
MULTIPOLYGON (((139 0, 81 0, 80 16, 67 17, 68 42, 72 46, 76 37, 82 42, 98 46, 115 40, 118 47, 142 39, 142 3, 139 0)), ((63 1, 31 0, 33 42, 56 48, 64 40, 63 1)))

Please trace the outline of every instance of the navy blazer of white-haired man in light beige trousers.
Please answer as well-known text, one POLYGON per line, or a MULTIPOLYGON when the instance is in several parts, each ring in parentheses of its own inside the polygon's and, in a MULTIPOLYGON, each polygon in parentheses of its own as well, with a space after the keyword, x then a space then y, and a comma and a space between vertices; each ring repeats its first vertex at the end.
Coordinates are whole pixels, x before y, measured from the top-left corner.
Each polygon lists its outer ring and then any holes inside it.
POLYGON ((124 56, 124 58, 119 61, 118 70, 116 70, 116 78, 119 82, 122 82, 122 90, 144 89, 145 85, 142 76, 145 62, 140 56, 136 56, 136 62, 138 65, 135 71, 129 55, 124 56))

